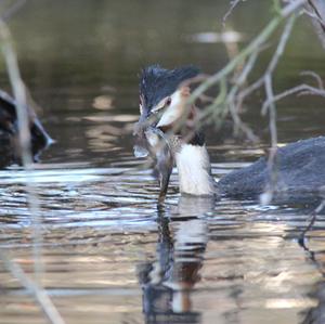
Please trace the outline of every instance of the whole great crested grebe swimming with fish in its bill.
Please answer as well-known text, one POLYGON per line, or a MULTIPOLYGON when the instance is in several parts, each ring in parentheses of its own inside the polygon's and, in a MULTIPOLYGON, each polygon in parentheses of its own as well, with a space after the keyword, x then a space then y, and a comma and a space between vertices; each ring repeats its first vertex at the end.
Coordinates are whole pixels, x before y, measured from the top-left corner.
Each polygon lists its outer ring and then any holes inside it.
MULTIPOLYGON (((165 69, 158 65, 142 72, 140 81, 140 119, 134 134, 140 146, 157 160, 160 198, 167 193, 169 177, 176 163, 180 192, 195 196, 245 195, 263 193, 270 183, 268 160, 261 157, 252 165, 235 170, 217 183, 211 176, 205 138, 194 124, 197 109, 193 105, 181 131, 176 125, 185 114, 191 95, 186 80, 197 76, 193 66, 165 69), (158 145, 160 143, 160 145, 158 145), (161 146, 162 143, 162 146, 161 146), (157 148, 158 147, 158 148, 157 148)), ((302 140, 277 150, 277 194, 318 192, 325 185, 325 137, 302 140)))

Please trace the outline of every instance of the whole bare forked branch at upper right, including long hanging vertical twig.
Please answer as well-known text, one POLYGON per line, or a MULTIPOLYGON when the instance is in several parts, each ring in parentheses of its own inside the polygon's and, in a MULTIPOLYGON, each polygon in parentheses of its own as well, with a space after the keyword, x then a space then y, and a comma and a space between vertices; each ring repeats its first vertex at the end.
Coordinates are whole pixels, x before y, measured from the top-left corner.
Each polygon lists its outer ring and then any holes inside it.
MULTIPOLYGON (((225 14, 226 18, 234 8, 240 1, 231 1, 230 10, 225 14)), ((190 98, 190 103, 193 103, 197 98, 205 94, 211 87, 219 87, 219 94, 216 100, 208 105, 203 112, 200 122, 205 122, 211 119, 211 116, 217 124, 220 124, 227 115, 230 115, 234 122, 234 132, 238 131, 244 133, 250 141, 256 142, 258 138, 252 130, 245 125, 239 116, 243 111, 244 102, 257 90, 263 88, 265 93, 265 100, 261 107, 262 115, 269 115, 269 129, 271 135, 271 150, 269 154, 268 167, 270 170, 270 184, 265 189, 265 193, 261 195, 261 202, 268 204, 272 200, 274 191, 276 190, 276 150, 277 150, 277 129, 276 129, 276 102, 289 94, 298 93, 302 94, 318 94, 324 96, 324 88, 321 78, 313 74, 316 79, 317 87, 309 85, 300 85, 292 89, 288 89, 285 92, 276 94, 273 88, 273 75, 277 67, 277 64, 284 53, 287 41, 292 31, 295 22, 300 13, 308 12, 309 16, 316 20, 318 27, 323 28, 323 37, 325 39, 324 17, 325 5, 324 2, 317 0, 290 0, 284 1, 284 7, 280 5, 280 1, 274 1, 274 17, 262 29, 262 31, 255 38, 246 48, 244 48, 235 57, 233 57, 229 64, 214 75, 208 77, 202 82, 193 92, 190 98), (321 8, 321 9, 318 9, 321 8), (252 83, 246 86, 250 73, 253 70, 258 61, 259 54, 266 43, 270 41, 274 33, 284 24, 280 41, 276 46, 274 54, 260 78, 252 83), (235 80, 232 80, 232 76, 235 69, 242 65, 242 72, 236 75, 235 80)))

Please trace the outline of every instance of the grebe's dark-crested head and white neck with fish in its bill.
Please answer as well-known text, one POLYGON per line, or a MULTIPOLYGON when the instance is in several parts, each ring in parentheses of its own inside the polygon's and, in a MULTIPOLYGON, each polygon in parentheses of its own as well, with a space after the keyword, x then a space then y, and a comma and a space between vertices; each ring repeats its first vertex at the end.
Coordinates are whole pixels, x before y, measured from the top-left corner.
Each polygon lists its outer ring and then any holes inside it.
POLYGON ((159 198, 162 199, 174 161, 182 193, 213 194, 204 137, 195 128, 197 112, 194 105, 188 106, 188 85, 198 73, 193 66, 165 69, 157 65, 142 72, 141 115, 134 134, 143 139, 143 143, 146 143, 144 146, 146 145, 147 152, 156 160, 160 183, 159 198), (179 127, 180 121, 182 127, 179 127))

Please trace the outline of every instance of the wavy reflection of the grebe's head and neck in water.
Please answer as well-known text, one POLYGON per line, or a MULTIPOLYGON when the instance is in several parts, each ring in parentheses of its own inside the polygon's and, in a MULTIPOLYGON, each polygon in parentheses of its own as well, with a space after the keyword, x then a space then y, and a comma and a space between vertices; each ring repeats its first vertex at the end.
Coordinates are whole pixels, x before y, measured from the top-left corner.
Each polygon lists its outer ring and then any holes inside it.
POLYGON ((191 297, 200 280, 208 226, 198 217, 212 208, 211 197, 186 196, 170 210, 158 207, 156 260, 138 269, 145 323, 200 322, 191 297))

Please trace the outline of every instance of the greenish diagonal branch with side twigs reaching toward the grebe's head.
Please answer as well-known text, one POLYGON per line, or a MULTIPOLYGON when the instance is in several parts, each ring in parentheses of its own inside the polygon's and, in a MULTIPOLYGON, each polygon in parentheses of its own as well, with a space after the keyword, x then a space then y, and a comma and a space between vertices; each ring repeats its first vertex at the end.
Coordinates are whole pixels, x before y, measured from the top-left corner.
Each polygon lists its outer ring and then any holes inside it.
MULTIPOLYGON (((210 117, 211 115, 217 118, 224 118, 227 113, 234 119, 235 127, 242 131, 250 139, 256 141, 257 138, 253 135, 251 130, 248 130, 238 116, 238 108, 242 106, 246 96, 251 94, 253 91, 259 89, 262 85, 265 85, 270 74, 276 67, 280 56, 283 53, 283 48, 285 47, 288 36, 292 29, 295 18, 291 16, 297 15, 297 11, 301 9, 307 3, 307 0, 296 0, 286 4, 277 14, 270 21, 270 23, 263 28, 263 30, 237 56, 230 61, 230 63, 223 67, 221 70, 214 75, 208 77, 204 82, 202 82, 193 92, 190 98, 190 103, 193 103, 197 98, 205 94, 213 86, 219 86, 219 95, 216 101, 205 108, 203 118, 210 117), (261 79, 253 82, 247 89, 243 90, 243 85, 247 81, 248 76, 253 69, 257 59, 261 50, 265 47, 266 42, 273 36, 275 30, 281 26, 281 24, 288 20, 286 27, 283 31, 282 41, 277 46, 277 50, 268 67, 268 70, 261 79), (242 74, 236 78, 230 90, 226 88, 229 80, 232 77, 235 68, 244 63, 242 74)), ((268 81, 270 83, 270 80, 268 81)), ((265 87, 266 89, 266 87, 265 87)), ((270 94, 270 93, 269 93, 270 94)))

